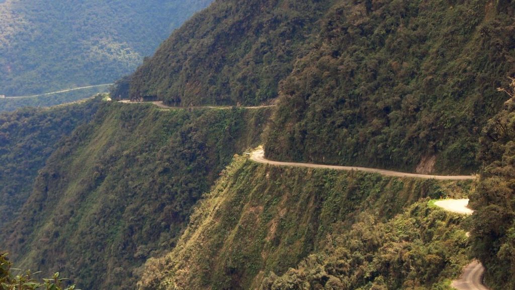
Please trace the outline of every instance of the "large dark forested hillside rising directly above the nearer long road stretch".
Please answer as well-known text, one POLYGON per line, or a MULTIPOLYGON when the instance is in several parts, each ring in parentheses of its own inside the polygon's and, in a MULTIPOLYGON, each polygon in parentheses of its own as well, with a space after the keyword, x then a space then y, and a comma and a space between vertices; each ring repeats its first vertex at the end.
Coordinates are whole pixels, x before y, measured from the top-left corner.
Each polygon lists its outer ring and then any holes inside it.
POLYGON ((282 83, 268 157, 477 172, 515 73, 514 2, 339 1, 320 26, 282 83))

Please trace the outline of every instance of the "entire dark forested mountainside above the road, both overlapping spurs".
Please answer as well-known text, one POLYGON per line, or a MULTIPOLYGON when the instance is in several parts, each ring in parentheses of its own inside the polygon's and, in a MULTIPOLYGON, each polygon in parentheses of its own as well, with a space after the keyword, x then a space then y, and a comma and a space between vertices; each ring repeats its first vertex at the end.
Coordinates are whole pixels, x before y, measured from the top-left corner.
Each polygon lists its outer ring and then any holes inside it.
POLYGON ((130 96, 183 106, 279 96, 272 159, 474 173, 513 47, 513 2, 224 1, 161 45, 130 96))

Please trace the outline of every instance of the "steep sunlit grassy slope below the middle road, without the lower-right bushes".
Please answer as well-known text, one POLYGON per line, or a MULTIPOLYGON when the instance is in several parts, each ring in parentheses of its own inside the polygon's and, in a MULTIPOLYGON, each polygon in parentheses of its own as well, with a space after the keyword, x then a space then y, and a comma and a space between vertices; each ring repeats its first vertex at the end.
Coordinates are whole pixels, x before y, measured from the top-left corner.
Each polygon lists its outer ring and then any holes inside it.
POLYGON ((257 288, 270 271, 282 274, 322 249, 328 234, 350 229, 363 212, 386 222, 420 198, 469 189, 470 182, 273 167, 236 157, 177 247, 147 263, 141 289, 257 288))

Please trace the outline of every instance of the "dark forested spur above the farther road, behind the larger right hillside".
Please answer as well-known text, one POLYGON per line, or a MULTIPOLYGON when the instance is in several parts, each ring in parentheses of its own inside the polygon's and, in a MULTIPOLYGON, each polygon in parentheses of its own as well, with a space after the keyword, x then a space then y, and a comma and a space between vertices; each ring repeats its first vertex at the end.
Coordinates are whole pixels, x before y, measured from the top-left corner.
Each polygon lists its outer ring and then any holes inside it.
POLYGON ((259 105, 303 55, 330 1, 217 1, 134 73, 130 96, 175 105, 259 105))

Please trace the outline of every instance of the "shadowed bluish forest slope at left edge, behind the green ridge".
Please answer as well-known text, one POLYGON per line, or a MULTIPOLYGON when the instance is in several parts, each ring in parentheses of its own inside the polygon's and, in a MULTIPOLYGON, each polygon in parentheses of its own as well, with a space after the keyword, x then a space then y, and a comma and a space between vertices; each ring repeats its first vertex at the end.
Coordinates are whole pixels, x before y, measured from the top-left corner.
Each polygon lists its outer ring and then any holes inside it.
POLYGON ((96 98, 82 104, 0 114, 0 231, 19 215, 38 170, 60 140, 88 123, 99 103, 96 98))

